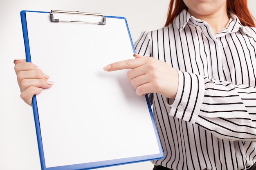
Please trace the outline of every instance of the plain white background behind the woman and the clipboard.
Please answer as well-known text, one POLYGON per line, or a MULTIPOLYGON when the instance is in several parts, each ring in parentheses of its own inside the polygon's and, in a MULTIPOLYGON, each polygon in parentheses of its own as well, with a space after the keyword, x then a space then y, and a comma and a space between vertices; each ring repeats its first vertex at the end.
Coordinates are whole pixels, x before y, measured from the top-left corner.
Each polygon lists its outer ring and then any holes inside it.
MULTIPOLYGON (((0 0, 0 170, 40 170, 32 108, 20 99, 14 59, 25 59, 20 11, 83 11, 127 19, 133 42, 161 28, 169 0, 0 0)), ((255 0, 248 0, 254 16, 255 0)), ((47 73, 46 73, 47 74, 47 73)), ((151 170, 150 162, 101 170, 151 170)))

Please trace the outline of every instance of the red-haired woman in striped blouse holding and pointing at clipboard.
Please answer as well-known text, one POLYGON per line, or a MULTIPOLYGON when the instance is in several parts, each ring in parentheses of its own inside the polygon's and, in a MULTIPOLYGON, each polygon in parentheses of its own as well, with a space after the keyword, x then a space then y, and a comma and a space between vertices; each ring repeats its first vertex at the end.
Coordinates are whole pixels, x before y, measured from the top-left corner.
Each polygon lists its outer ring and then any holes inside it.
MULTIPOLYGON (((154 170, 256 166, 255 48, 246 0, 171 0, 165 27, 141 33, 135 59, 103 68, 131 69, 137 95, 149 93, 164 149, 154 170)), ((14 63, 27 104, 52 86, 37 66, 14 63)))

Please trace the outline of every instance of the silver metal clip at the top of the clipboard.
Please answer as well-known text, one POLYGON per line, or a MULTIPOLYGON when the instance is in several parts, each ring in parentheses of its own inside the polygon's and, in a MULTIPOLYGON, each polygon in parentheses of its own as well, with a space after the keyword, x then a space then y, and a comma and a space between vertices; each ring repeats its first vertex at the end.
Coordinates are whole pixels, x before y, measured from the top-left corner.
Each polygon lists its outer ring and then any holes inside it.
POLYGON ((58 11, 58 10, 51 10, 50 12, 50 20, 51 22, 83 22, 86 24, 98 24, 98 25, 106 25, 106 18, 101 13, 86 13, 86 12, 79 12, 79 11, 58 11), (65 20, 59 20, 55 19, 53 14, 72 14, 72 15, 90 15, 90 16, 98 16, 101 17, 101 21, 99 22, 86 22, 82 20, 71 20, 71 21, 65 21, 65 20))

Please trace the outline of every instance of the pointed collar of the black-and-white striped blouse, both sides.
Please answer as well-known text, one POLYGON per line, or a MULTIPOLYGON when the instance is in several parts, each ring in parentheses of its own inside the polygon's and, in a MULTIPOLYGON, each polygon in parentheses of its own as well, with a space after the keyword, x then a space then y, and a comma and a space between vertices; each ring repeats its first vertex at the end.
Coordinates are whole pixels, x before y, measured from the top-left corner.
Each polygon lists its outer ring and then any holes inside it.
MULTIPOLYGON (((251 33, 249 33, 245 26, 241 24, 240 20, 234 13, 229 12, 229 16, 230 19, 227 27, 225 29, 222 29, 222 31, 220 31, 218 34, 226 35, 228 33, 235 33, 240 29, 246 35, 252 37, 251 33)), ((195 26, 202 26, 207 24, 207 22, 193 17, 186 9, 182 10, 182 12, 175 18, 174 23, 176 24, 180 32, 183 31, 187 24, 193 24, 195 26)))

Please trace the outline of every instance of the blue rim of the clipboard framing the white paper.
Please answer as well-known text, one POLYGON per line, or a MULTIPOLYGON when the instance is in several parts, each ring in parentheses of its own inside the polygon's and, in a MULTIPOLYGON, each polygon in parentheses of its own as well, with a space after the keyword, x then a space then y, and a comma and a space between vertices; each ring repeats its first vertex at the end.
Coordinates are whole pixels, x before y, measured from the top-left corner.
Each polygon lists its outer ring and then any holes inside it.
MULTIPOLYGON (((24 39, 24 44, 25 44, 26 61, 31 62, 26 12, 36 12, 36 13, 50 13, 50 12, 25 11, 25 10, 20 11, 20 18, 21 18, 21 24, 22 24, 22 33, 23 33, 23 39, 24 39)), ((126 18, 120 17, 120 16, 105 16, 105 17, 106 18, 118 18, 118 19, 124 19, 125 20, 126 27, 127 27, 127 30, 128 30, 128 34, 129 34, 129 37, 130 37, 131 46, 132 46, 133 52, 135 53, 135 49, 134 49, 134 46, 133 46, 133 42, 132 42, 132 38, 131 38, 131 35, 130 35, 130 30, 129 30, 126 18)), ((103 167, 109 167, 109 166, 124 165, 124 164, 128 164, 128 163, 138 163, 138 162, 144 162, 144 161, 152 161, 152 160, 155 160, 155 159, 162 159, 164 157, 164 152, 163 152, 161 142, 160 142, 160 139, 159 139, 159 135, 158 135, 158 132, 157 132, 155 119, 154 119, 154 116, 153 116, 153 113, 152 113, 152 109, 151 109, 151 106, 150 106, 148 95, 145 95, 145 97, 146 97, 146 101, 147 101, 147 104, 148 104, 148 110, 150 112, 150 117, 151 117, 151 121, 153 123, 153 128, 154 128, 154 131, 155 131, 155 135, 157 137, 157 143, 158 143, 159 151, 160 151, 159 154, 46 168, 45 167, 45 157, 44 157, 44 152, 43 152, 43 142, 42 142, 41 130, 40 130, 40 121, 39 121, 38 108, 37 108, 37 102, 36 102, 36 95, 34 95, 33 98, 32 98, 32 109, 33 109, 33 113, 34 113, 34 121, 35 121, 35 126, 36 126, 36 137, 37 137, 37 141, 38 141, 38 151, 39 151, 41 169, 42 170, 86 170, 86 169, 96 169, 96 168, 103 168, 103 167)))

